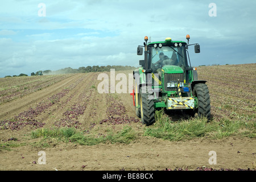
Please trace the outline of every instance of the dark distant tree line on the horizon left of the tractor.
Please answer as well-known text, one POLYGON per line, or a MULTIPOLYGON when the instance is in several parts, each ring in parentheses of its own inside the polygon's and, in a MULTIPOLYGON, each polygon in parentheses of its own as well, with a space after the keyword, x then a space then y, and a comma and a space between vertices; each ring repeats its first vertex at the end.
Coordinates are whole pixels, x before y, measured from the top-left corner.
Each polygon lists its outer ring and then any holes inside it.
MULTIPOLYGON (((87 67, 80 67, 78 69, 73 69, 71 67, 59 69, 56 71, 45 70, 45 71, 37 71, 32 72, 30 76, 40 76, 40 75, 59 75, 59 74, 67 74, 67 73, 89 73, 89 72, 109 72, 110 69, 115 69, 115 71, 125 71, 135 69, 136 67, 131 66, 121 66, 121 65, 107 65, 107 66, 87 66, 87 67)), ((18 76, 28 76, 24 73, 20 73, 18 76)), ((17 77, 17 75, 13 76, 5 76, 5 77, 17 77)))

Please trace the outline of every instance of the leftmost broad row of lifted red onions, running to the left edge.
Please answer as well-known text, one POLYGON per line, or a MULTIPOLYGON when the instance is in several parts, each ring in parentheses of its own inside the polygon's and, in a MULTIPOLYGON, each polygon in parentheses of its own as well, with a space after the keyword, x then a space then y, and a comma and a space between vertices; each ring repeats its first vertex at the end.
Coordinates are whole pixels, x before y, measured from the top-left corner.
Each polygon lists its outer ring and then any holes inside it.
POLYGON ((43 127, 45 123, 39 122, 36 120, 36 117, 46 111, 53 104, 56 104, 63 98, 70 90, 75 88, 79 81, 73 82, 68 88, 61 90, 60 92, 53 94, 52 96, 46 98, 39 102, 34 108, 30 107, 28 110, 15 115, 11 119, 4 119, 0 121, 0 129, 11 129, 11 130, 20 130, 24 126, 31 125, 32 127, 38 128, 43 127))

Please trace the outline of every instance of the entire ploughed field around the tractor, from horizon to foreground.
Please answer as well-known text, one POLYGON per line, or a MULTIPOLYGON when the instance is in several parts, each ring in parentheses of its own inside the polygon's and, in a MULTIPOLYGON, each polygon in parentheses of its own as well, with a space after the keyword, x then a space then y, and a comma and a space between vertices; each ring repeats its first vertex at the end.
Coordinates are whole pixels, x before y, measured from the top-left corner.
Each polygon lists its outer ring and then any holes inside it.
POLYGON ((152 126, 135 114, 132 71, 115 72, 127 76, 127 93, 109 94, 98 93, 100 72, 0 78, 0 170, 255 169, 256 64, 197 72, 211 121, 158 111, 152 126))

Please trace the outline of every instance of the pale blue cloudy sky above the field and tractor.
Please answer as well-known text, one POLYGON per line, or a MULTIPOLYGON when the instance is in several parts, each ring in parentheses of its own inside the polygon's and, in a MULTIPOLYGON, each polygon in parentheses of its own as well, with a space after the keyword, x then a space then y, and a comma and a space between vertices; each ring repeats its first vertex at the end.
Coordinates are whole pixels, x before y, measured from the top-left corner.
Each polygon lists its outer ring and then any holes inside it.
POLYGON ((252 0, 0 2, 0 77, 88 65, 137 67, 144 36, 186 41, 189 34, 189 43, 201 48, 197 54, 189 49, 193 66, 256 63, 252 0))

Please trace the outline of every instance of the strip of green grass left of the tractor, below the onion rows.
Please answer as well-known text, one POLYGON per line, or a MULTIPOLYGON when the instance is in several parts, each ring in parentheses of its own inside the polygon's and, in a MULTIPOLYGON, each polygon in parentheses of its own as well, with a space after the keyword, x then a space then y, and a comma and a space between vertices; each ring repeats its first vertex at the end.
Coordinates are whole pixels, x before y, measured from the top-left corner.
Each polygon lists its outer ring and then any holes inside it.
MULTIPOLYGON (((137 133, 131 126, 124 126, 119 132, 109 129, 106 135, 97 136, 95 134, 84 134, 74 128, 62 129, 38 129, 31 132, 31 138, 43 137, 43 141, 51 138, 62 142, 73 142, 81 145, 96 145, 99 143, 130 143, 137 139, 137 133)), ((47 143, 41 142, 44 147, 48 147, 47 143)))

